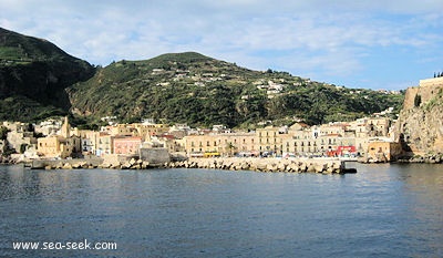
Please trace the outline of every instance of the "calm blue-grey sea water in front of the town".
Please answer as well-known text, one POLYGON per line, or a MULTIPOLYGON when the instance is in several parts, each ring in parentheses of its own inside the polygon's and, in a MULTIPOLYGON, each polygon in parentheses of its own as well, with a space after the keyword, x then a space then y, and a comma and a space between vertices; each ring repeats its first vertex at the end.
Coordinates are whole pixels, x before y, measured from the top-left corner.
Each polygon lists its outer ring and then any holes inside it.
POLYGON ((358 174, 0 166, 0 257, 443 257, 443 166, 358 174), (13 241, 116 250, 13 250, 13 241))

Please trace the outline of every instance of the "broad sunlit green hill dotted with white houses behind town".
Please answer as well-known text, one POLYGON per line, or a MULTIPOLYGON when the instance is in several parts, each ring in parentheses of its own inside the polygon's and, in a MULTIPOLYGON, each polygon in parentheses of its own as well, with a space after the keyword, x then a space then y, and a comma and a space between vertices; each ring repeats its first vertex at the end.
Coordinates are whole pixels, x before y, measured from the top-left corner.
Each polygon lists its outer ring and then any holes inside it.
POLYGON ((390 106, 400 110, 403 101, 403 95, 338 87, 287 72, 251 71, 195 52, 114 62, 68 92, 71 111, 83 117, 233 127, 266 120, 350 121, 390 106))

